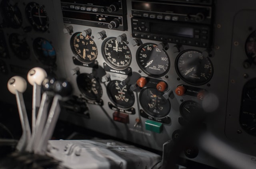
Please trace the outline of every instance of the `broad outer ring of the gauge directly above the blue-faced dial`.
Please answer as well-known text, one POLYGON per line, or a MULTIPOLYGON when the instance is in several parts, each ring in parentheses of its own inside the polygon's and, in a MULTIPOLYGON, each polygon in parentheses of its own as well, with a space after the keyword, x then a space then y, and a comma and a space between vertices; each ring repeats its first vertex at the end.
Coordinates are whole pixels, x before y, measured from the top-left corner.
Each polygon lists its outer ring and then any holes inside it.
POLYGON ((25 12, 26 12, 26 18, 28 19, 28 21, 30 22, 30 24, 32 25, 32 27, 35 30, 45 32, 45 31, 47 31, 49 29, 50 20, 49 20, 49 16, 48 16, 46 10, 44 9, 43 5, 40 5, 40 4, 36 3, 36 2, 29 2, 26 5, 25 12), (35 8, 35 7, 42 8, 43 12, 45 13, 45 15, 46 15, 46 24, 45 25, 37 24, 36 21, 31 16, 32 9, 35 8))

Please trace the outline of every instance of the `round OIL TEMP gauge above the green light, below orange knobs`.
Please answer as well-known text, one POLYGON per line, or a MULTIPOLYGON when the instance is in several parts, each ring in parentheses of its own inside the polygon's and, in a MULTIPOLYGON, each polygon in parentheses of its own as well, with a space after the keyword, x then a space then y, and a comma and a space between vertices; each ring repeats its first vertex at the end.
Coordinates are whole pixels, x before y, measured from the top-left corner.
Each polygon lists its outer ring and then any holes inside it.
POLYGON ((140 104, 148 115, 160 118, 170 112, 170 101, 163 94, 156 88, 145 88, 140 92, 140 104))

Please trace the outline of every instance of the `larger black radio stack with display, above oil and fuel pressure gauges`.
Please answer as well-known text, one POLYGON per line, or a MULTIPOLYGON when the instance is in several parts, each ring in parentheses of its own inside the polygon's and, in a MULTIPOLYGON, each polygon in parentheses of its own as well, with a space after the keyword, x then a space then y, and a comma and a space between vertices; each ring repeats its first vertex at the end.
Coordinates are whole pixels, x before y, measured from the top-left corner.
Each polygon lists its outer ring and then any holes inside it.
POLYGON ((211 45, 212 6, 132 1, 132 16, 133 37, 199 47, 211 45))

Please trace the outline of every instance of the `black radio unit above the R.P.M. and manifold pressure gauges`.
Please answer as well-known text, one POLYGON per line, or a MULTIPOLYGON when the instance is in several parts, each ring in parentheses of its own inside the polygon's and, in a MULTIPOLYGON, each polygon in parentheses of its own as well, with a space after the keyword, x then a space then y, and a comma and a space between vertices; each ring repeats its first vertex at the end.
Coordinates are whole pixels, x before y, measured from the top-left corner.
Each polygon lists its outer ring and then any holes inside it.
POLYGON ((127 30, 124 0, 61 0, 64 23, 127 30))

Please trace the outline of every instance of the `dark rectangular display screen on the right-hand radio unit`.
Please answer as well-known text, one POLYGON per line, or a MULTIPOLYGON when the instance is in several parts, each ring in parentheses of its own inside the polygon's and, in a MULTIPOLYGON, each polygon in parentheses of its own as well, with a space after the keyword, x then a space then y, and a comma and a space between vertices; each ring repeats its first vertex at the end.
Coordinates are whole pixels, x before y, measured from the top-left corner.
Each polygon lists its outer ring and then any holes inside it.
POLYGON ((183 37, 194 37, 194 28, 150 22, 150 32, 183 37))

